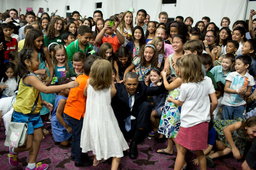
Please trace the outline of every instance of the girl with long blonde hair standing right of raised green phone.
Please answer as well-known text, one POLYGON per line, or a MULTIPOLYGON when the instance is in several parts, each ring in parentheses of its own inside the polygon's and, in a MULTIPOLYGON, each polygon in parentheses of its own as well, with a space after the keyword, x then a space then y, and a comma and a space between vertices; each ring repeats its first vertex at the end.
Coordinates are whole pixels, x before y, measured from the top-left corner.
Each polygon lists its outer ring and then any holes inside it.
POLYGON ((133 15, 130 11, 125 11, 123 13, 120 24, 117 27, 117 30, 123 35, 125 43, 122 46, 126 46, 132 40, 132 31, 133 31, 133 15), (129 34, 129 35, 128 35, 129 34))

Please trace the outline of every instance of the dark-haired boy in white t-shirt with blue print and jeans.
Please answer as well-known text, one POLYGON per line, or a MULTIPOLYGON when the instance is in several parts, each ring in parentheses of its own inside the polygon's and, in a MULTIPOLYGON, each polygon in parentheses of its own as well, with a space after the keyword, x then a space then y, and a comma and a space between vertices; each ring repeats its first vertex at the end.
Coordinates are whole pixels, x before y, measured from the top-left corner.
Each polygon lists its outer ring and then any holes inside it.
POLYGON ((244 119, 243 113, 246 101, 244 97, 251 95, 252 86, 254 86, 254 78, 247 69, 251 64, 251 57, 242 55, 238 56, 235 61, 236 71, 228 74, 224 88, 224 96, 221 101, 222 117, 224 120, 240 117, 244 119))

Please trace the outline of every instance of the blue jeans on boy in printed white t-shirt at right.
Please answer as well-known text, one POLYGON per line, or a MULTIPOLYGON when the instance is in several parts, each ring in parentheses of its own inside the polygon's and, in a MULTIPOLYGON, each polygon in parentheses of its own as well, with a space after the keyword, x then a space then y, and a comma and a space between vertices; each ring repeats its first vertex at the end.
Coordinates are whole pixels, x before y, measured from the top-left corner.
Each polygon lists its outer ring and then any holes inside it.
POLYGON ((245 107, 242 106, 227 106, 223 105, 222 107, 222 118, 224 120, 230 120, 232 117, 232 114, 234 113, 234 117, 240 117, 244 119, 243 113, 244 113, 245 107))

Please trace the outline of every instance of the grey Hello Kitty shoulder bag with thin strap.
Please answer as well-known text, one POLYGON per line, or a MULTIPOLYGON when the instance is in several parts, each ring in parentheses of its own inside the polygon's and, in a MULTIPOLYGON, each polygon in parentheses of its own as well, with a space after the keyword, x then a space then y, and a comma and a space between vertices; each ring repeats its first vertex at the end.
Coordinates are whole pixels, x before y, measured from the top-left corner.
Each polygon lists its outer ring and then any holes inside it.
MULTIPOLYGON (((31 109, 29 118, 37 106, 38 97, 39 97, 39 93, 37 95, 36 101, 35 101, 32 109, 31 109)), ((26 123, 20 123, 20 122, 13 122, 12 117, 11 117, 11 123, 9 124, 5 142, 4 142, 5 146, 19 148, 26 144, 27 135, 28 135, 29 118, 26 123)))

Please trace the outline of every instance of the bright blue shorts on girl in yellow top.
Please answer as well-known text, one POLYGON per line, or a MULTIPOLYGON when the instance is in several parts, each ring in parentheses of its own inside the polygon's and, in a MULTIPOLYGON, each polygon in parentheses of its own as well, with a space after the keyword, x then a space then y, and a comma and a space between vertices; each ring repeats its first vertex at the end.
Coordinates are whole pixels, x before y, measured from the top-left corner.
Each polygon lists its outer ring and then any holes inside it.
MULTIPOLYGON (((13 122, 26 123, 30 114, 23 114, 20 112, 13 112, 13 122)), ((28 134, 34 133, 34 129, 43 126, 43 121, 40 117, 40 112, 37 114, 31 114, 28 122, 28 134)))

